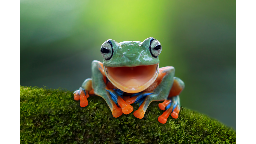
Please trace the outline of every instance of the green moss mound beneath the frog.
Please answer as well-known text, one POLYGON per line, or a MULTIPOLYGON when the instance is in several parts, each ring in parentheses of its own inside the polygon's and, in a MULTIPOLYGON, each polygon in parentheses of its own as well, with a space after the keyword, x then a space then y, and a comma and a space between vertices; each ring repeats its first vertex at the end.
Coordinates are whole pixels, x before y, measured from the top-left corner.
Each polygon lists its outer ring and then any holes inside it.
MULTIPOLYGON (((104 99, 88 98, 81 108, 68 90, 20 87, 20 142, 33 144, 82 143, 236 143, 236 132, 198 112, 181 108, 178 119, 168 118, 159 102, 150 104, 145 117, 114 118, 104 99)), ((134 110, 138 105, 133 104, 134 110)))

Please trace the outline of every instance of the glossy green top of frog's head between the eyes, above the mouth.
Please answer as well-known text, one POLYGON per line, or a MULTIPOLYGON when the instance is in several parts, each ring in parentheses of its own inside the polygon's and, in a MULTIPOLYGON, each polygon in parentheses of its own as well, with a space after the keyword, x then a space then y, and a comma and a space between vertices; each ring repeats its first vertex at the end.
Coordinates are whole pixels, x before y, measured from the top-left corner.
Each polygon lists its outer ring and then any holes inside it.
POLYGON ((103 66, 134 67, 159 63, 159 58, 154 58, 149 51, 150 40, 151 38, 147 38, 144 42, 125 41, 120 43, 110 40, 113 44, 114 53, 110 60, 103 60, 103 66))

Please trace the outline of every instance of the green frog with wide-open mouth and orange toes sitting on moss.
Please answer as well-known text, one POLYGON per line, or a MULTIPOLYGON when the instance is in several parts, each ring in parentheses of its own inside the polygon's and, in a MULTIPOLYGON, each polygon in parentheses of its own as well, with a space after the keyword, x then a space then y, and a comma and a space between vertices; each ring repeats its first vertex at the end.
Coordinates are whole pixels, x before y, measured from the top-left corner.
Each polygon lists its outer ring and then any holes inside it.
POLYGON ((177 119, 180 112, 179 95, 184 82, 174 76, 175 68, 159 68, 161 43, 153 37, 140 41, 116 42, 109 39, 100 47, 103 62, 92 61, 92 76, 74 91, 74 100, 80 106, 88 105, 92 95, 102 97, 114 118, 134 111, 131 104, 139 105, 133 115, 139 119, 153 101, 163 101, 158 107, 164 112, 158 117, 162 124, 169 115, 177 119))

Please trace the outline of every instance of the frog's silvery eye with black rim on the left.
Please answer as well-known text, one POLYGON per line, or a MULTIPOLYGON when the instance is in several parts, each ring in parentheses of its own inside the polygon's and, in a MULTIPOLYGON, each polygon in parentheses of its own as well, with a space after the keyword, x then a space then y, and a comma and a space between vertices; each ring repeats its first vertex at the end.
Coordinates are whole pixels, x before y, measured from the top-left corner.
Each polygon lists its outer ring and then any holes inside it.
POLYGON ((100 48, 100 52, 105 60, 110 60, 114 52, 112 42, 110 40, 104 42, 100 48))

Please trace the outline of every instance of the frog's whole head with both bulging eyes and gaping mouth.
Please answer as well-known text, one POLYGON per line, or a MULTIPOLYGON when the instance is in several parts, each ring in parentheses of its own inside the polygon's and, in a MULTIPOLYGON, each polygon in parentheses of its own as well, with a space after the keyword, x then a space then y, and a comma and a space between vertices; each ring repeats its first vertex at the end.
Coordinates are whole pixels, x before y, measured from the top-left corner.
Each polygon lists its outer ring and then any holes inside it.
POLYGON ((152 37, 143 42, 110 39, 100 49, 107 78, 127 93, 141 92, 156 80, 161 50, 160 42, 152 37))

